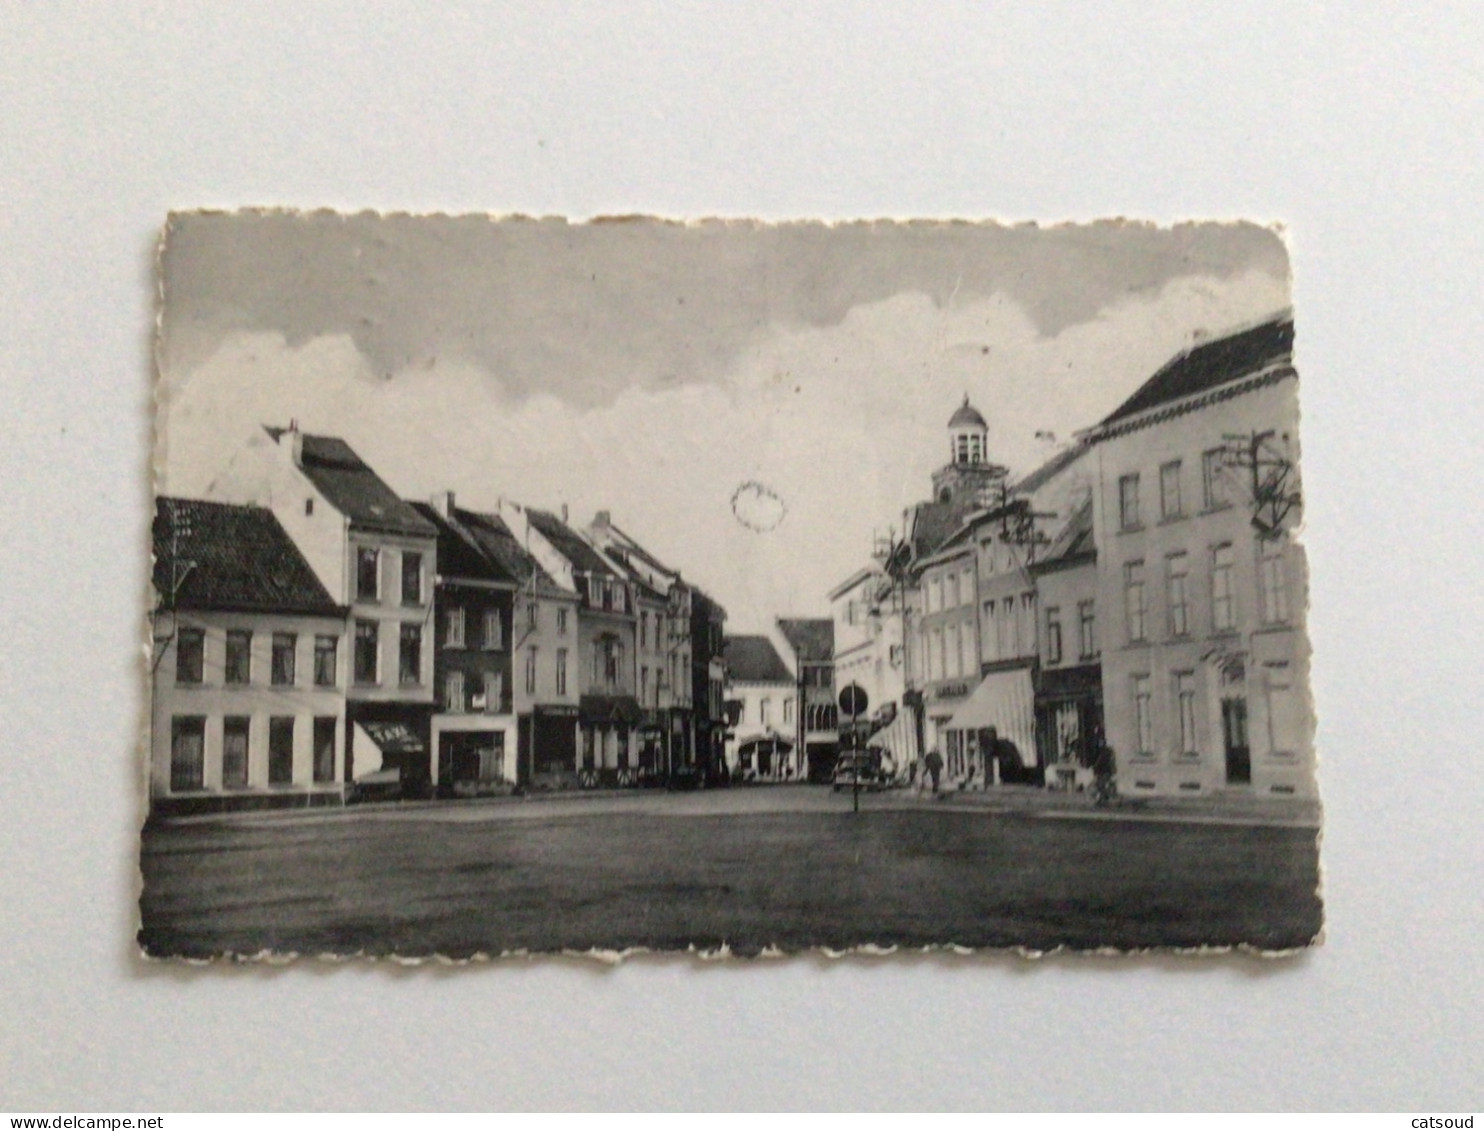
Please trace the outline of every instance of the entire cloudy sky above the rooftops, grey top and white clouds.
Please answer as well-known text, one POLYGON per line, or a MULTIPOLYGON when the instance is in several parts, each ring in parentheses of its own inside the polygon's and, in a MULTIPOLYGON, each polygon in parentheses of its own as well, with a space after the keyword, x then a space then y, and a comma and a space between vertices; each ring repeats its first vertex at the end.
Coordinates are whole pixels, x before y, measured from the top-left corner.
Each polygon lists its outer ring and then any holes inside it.
POLYGON ((1198 334, 1290 303, 1257 226, 669 224, 202 214, 162 254, 162 493, 258 423, 408 497, 603 508, 736 631, 824 613, 965 393, 1022 473, 1198 334), (766 533, 732 497, 787 508, 766 533))

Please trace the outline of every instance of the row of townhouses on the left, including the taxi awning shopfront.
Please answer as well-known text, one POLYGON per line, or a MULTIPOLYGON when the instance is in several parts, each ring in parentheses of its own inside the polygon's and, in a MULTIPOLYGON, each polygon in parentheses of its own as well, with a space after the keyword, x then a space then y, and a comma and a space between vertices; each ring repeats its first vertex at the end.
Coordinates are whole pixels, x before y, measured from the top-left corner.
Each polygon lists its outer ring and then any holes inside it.
POLYGON ((154 521, 154 813, 717 776, 724 609, 600 514, 269 427, 154 521))

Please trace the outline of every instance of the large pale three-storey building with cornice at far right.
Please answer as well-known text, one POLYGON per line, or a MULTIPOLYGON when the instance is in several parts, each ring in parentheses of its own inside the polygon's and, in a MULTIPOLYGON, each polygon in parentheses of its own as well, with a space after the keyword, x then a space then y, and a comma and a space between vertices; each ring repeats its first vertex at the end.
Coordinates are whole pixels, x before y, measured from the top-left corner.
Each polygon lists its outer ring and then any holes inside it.
POLYGON ((1125 796, 1312 796, 1293 321, 1178 355, 1086 435, 1125 796))

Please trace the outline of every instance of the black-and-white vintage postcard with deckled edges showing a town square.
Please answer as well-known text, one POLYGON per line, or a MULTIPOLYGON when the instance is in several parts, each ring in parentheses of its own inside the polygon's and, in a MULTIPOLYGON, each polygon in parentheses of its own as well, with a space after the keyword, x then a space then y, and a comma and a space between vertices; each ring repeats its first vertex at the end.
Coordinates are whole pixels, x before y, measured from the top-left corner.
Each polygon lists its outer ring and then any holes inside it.
POLYGON ((1322 929, 1288 252, 197 212, 151 957, 1322 929))

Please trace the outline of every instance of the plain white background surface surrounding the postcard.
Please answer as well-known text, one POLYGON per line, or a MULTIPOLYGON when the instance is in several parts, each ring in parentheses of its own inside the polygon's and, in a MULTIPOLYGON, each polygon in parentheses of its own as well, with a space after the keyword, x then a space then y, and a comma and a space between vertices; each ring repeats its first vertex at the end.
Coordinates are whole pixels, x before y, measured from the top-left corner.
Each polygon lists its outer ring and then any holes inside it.
POLYGON ((0 10, 0 1109, 1484 1097, 1474 4, 0 10), (147 966, 151 248, 297 205, 1291 226, 1328 942, 147 966))

